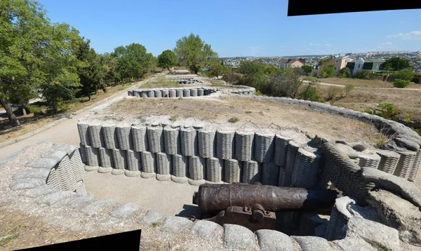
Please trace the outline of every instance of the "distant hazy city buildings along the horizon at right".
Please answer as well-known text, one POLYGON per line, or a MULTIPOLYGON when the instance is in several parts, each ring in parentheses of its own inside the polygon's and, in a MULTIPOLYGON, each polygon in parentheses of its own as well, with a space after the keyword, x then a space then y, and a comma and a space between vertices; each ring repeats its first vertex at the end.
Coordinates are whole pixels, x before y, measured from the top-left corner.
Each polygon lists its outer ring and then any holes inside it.
POLYGON ((283 57, 220 57, 220 60, 232 68, 238 68, 240 62, 260 60, 266 65, 274 67, 282 67, 285 62, 291 59, 300 59, 305 62, 305 65, 316 67, 319 60, 325 57, 353 57, 354 60, 387 60, 390 57, 402 57, 410 60, 410 67, 416 73, 421 73, 421 50, 410 52, 409 50, 394 50, 394 51, 369 51, 367 53, 339 53, 336 55, 297 55, 297 56, 283 56, 283 57))

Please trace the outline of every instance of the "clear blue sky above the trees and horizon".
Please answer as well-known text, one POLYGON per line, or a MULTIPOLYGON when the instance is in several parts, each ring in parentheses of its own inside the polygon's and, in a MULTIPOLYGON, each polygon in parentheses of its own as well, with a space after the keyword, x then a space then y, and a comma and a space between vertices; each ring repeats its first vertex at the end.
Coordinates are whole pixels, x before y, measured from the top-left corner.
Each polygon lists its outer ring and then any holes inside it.
MULTIPOLYGON (((421 10, 287 17, 287 0, 39 0, 98 53, 140 43, 159 55, 199 34, 220 57, 421 50, 421 10)), ((305 4, 305 1, 302 1, 305 4)))

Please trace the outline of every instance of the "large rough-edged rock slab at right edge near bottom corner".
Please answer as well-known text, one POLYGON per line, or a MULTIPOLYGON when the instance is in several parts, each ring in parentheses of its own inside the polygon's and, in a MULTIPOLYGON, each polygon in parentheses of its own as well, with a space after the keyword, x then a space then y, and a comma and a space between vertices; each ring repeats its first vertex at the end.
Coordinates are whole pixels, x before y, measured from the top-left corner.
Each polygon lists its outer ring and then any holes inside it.
POLYGON ((377 209, 382 223, 399 231, 406 243, 421 245, 421 212, 412 203, 389 191, 371 191, 368 202, 377 209))

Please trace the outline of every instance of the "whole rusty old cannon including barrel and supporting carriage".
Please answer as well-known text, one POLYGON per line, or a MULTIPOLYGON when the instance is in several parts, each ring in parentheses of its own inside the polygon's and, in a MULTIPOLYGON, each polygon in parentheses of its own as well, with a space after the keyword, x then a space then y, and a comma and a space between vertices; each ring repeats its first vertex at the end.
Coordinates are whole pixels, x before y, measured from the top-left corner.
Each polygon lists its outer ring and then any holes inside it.
POLYGON ((215 215, 209 220, 220 225, 239 224, 252 231, 275 229, 280 211, 328 212, 338 192, 262 184, 202 184, 194 192, 199 211, 215 215))

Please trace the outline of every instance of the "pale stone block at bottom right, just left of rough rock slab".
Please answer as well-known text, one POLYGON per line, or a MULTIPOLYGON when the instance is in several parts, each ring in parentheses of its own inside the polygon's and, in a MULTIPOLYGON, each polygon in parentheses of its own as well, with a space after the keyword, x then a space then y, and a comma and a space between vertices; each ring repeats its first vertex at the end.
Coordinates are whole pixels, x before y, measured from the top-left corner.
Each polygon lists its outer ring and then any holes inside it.
POLYGON ((392 227, 360 217, 349 219, 345 227, 347 237, 359 237, 370 244, 377 244, 391 250, 399 250, 399 232, 392 227))

